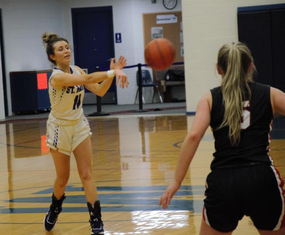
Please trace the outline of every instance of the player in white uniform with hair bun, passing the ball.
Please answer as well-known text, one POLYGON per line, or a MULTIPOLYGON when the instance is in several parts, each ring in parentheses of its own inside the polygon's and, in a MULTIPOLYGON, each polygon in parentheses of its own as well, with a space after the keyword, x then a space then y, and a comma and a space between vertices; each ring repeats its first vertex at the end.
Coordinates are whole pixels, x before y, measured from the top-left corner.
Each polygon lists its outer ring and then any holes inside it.
POLYGON ((87 207, 90 215, 91 234, 104 234, 101 207, 94 180, 92 179, 92 149, 90 127, 83 115, 82 101, 84 87, 103 96, 113 81, 120 87, 128 87, 127 76, 121 69, 126 59, 121 56, 116 63, 111 60, 110 70, 85 74, 77 66, 69 66, 71 51, 65 38, 54 33, 44 33, 42 40, 46 45, 49 61, 56 67, 50 76, 49 96, 51 111, 47 120, 47 146, 52 153, 56 180, 53 187, 52 204, 44 219, 45 229, 50 231, 56 225, 58 215, 65 199, 65 188, 69 179, 70 154, 73 152, 80 179, 83 183, 87 207), (98 84, 98 82, 102 82, 98 84))

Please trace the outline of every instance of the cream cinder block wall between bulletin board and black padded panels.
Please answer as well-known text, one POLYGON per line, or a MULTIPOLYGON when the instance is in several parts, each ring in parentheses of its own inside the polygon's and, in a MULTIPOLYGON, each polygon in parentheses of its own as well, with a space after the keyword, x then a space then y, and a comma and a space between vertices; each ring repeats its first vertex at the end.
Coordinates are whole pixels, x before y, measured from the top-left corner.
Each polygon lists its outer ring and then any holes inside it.
POLYGON ((187 112, 220 85, 217 55, 223 44, 238 41, 237 8, 280 3, 284 0, 182 0, 187 112))

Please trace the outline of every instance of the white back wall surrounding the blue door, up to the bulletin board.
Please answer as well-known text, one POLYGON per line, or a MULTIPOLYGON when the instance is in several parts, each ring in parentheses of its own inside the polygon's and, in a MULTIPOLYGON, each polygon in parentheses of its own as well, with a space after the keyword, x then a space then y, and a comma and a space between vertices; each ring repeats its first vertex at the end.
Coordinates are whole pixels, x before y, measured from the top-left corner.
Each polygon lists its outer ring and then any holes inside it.
MULTIPOLYGON (((115 56, 125 55, 128 65, 144 63, 142 13, 169 11, 163 7, 161 0, 158 0, 156 4, 152 4, 151 0, 0 1, 9 116, 13 115, 9 72, 49 69, 50 62, 47 60, 45 49, 42 48, 40 38, 42 33, 54 31, 61 37, 66 37, 72 45, 71 8, 99 6, 113 7, 114 33, 121 32, 122 34, 122 43, 115 43, 115 56)), ((173 10, 181 11, 181 0, 178 0, 173 10)), ((118 104, 134 102, 137 91, 136 71, 136 68, 125 70, 129 76, 130 86, 124 90, 117 89, 118 104)), ((1 78, 0 70, 0 119, 4 119, 1 78)))

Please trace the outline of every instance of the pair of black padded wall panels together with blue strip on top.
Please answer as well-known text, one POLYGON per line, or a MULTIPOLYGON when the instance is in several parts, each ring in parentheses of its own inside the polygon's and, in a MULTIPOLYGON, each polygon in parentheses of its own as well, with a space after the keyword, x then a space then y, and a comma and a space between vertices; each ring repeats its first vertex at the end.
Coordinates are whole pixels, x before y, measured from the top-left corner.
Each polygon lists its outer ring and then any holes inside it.
POLYGON ((285 92, 285 4, 238 7, 238 39, 251 50, 255 80, 285 92))

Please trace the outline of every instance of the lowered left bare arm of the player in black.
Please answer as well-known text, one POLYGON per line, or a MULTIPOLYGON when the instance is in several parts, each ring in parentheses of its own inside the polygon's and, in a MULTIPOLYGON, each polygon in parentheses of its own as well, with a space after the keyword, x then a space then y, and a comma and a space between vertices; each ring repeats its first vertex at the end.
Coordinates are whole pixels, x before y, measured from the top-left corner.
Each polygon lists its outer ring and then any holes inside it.
POLYGON ((205 134, 211 119, 212 95, 207 92, 199 101, 192 127, 183 141, 176 165, 174 180, 160 198, 159 205, 166 209, 174 193, 181 186, 198 145, 205 134))

